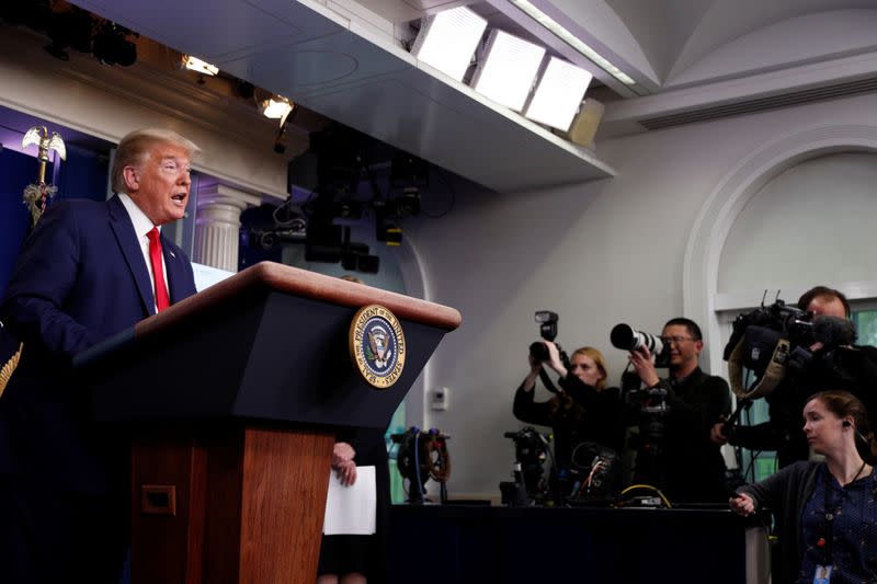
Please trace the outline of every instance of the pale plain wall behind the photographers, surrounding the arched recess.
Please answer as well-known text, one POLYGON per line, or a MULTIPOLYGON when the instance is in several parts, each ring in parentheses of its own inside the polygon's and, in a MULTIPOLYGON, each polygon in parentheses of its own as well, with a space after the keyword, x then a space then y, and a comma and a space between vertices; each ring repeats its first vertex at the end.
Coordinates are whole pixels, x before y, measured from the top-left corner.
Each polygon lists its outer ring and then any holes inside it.
MULTIPOLYGON (((442 221, 409 226, 425 265, 428 298, 464 317, 431 362, 432 387, 451 389, 448 411, 430 413, 428 424, 452 436, 452 495, 497 495, 497 483, 509 474, 513 451, 502 433, 520 426, 511 403, 526 373, 526 346, 536 337, 534 310, 559 312, 563 344, 603 351, 617 381, 626 356, 608 343, 614 324, 660 332, 675 316, 709 321, 718 255, 705 248, 720 251, 736 217, 717 199, 742 205, 741 190, 756 191, 752 185, 773 178, 771 168, 778 174, 809 151, 843 149, 815 128, 866 125, 877 127, 877 95, 619 138, 600 145, 601 157, 618 170, 613 180, 468 193, 442 221), (812 144, 796 144, 788 154, 770 149, 799 135, 815 136, 807 138, 812 144), (758 164, 750 169, 752 160, 758 164), (731 188, 741 176, 751 184, 731 188)), ((824 282, 819 266, 836 260, 833 250, 809 253, 813 280, 824 282)))

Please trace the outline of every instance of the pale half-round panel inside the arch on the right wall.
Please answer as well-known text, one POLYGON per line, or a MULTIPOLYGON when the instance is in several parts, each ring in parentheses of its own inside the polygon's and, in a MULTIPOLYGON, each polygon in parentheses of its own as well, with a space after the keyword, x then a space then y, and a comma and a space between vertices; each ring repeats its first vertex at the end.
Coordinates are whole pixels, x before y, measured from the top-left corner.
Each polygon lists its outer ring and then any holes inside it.
POLYGON ((807 160, 770 181, 733 222, 721 254, 719 291, 806 289, 815 275, 829 282, 873 279, 875 185, 877 154, 864 152, 807 160))

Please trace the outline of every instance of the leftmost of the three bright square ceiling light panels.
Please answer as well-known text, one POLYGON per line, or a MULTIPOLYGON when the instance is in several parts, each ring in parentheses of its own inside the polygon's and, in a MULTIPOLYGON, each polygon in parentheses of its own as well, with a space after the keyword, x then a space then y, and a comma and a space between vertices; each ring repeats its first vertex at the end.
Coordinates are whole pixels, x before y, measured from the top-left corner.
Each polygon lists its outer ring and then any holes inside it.
POLYGON ((411 54, 430 67, 463 81, 487 21, 466 7, 422 19, 411 54))

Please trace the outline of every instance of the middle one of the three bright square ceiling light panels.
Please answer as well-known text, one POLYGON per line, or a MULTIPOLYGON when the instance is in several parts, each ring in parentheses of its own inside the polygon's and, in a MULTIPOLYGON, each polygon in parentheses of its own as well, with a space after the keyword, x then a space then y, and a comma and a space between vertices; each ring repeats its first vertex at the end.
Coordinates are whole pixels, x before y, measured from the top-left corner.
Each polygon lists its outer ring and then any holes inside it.
POLYGON ((544 57, 543 47, 493 28, 472 76, 472 89, 485 98, 520 112, 524 108, 544 57))

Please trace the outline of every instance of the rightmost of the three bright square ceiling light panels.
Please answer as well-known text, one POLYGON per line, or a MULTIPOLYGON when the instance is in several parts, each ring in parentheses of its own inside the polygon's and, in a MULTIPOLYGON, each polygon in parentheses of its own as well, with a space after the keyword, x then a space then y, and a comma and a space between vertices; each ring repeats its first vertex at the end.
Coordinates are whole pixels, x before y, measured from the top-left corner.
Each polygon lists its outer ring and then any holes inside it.
POLYGON ((571 62, 549 57, 536 91, 524 108, 534 122, 567 131, 593 76, 571 62))

